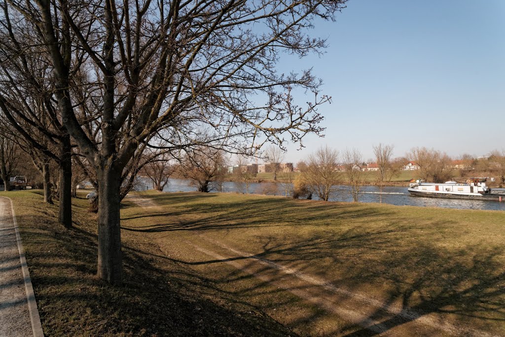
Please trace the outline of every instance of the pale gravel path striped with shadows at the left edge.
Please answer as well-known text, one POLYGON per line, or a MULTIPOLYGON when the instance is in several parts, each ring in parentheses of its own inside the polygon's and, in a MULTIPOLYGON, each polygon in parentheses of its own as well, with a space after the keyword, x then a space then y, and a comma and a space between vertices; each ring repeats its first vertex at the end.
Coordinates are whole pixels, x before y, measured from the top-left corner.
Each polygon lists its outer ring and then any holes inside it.
POLYGON ((0 336, 31 336, 11 202, 0 197, 0 336))

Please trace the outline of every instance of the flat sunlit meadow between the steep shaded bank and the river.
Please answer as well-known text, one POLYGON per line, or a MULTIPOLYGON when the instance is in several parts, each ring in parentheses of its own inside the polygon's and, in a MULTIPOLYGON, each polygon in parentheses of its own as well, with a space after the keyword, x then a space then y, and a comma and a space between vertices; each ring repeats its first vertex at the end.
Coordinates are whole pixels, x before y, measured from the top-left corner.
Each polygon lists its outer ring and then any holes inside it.
POLYGON ((213 279, 237 300, 255 305, 297 333, 360 330, 307 307, 287 291, 272 290, 221 263, 223 259, 195 251, 194 245, 216 250, 210 242, 219 241, 352 292, 399 303, 403 309, 505 334, 503 212, 235 194, 147 196, 159 207, 147 213, 125 209, 125 232, 144 233, 162 254, 213 279))

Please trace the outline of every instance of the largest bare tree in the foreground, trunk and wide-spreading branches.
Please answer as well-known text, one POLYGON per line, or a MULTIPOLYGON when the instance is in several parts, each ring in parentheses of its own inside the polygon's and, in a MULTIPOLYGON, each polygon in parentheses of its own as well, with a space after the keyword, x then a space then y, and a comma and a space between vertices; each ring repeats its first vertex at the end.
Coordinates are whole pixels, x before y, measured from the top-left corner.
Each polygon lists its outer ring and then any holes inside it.
POLYGON ((153 133, 168 130, 174 147, 220 141, 245 153, 256 139, 282 146, 285 136, 322 131, 317 107, 329 98, 317 95, 321 82, 310 71, 279 74, 275 65, 283 52, 319 53, 325 41, 307 28, 333 20, 344 3, 9 1, 2 22, 14 13, 15 33, 4 34, 12 54, 43 54, 50 98, 96 172, 99 277, 122 282, 121 177, 153 133), (14 41, 18 35, 29 43, 14 41), (293 87, 315 100, 297 106, 293 87), (203 125, 213 139, 199 139, 203 125))

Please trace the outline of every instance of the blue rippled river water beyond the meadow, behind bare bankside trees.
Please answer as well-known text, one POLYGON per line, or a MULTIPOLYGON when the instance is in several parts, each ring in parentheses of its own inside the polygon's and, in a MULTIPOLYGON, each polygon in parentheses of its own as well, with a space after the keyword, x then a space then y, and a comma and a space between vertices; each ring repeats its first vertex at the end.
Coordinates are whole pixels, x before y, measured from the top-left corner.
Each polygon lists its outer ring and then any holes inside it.
MULTIPOLYGON (((152 188, 146 180, 142 180, 145 188, 152 188)), ((251 183, 249 193, 256 193, 264 190, 265 184, 251 183)), ((335 192, 330 198, 330 201, 351 202, 352 197, 347 186, 334 186, 335 192)), ((505 191, 504 188, 493 188, 494 191, 505 191)), ((165 192, 190 192, 196 191, 196 187, 191 186, 189 180, 184 179, 169 179, 169 183, 164 188, 165 192)), ((244 184, 227 181, 223 185, 223 192, 239 192, 245 193, 244 184)), ((273 194, 272 192, 270 194, 273 194)), ((279 184, 277 195, 285 195, 283 187, 279 184)), ((317 200, 317 197, 314 196, 317 200)), ((359 201, 363 203, 378 203, 379 202, 379 187, 363 186, 359 201)), ((385 186, 382 190, 382 202, 391 205, 410 205, 421 207, 442 207, 442 208, 458 208, 458 209, 478 209, 478 210, 502 210, 505 211, 505 202, 496 201, 479 201, 466 199, 439 199, 439 198, 424 198, 414 197, 409 194, 407 187, 385 186)))

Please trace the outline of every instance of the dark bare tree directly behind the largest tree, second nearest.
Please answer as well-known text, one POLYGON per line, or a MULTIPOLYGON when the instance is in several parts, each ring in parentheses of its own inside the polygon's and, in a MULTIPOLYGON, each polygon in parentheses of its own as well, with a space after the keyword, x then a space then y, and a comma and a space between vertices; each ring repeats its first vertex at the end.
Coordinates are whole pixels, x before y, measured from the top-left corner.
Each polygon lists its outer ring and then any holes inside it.
MULTIPOLYGON (((58 165, 58 222, 69 228, 72 226, 72 144, 59 118, 57 103, 48 94, 53 84, 45 81, 47 60, 39 49, 32 53, 28 52, 29 47, 24 50, 26 53, 20 51, 24 49, 23 43, 37 45, 37 42, 27 32, 19 34, 11 25, 6 3, 0 7, 4 9, 6 23, 0 31, 0 60, 3 60, 0 62, 0 111, 5 122, 16 131, 16 138, 22 137, 33 149, 32 153, 58 165)), ((42 169, 45 177, 47 167, 42 169)), ((47 195, 47 189, 44 194, 47 195)))

